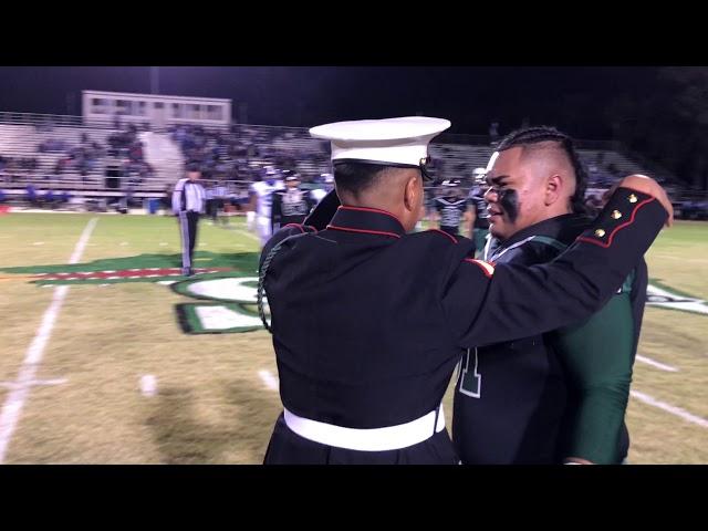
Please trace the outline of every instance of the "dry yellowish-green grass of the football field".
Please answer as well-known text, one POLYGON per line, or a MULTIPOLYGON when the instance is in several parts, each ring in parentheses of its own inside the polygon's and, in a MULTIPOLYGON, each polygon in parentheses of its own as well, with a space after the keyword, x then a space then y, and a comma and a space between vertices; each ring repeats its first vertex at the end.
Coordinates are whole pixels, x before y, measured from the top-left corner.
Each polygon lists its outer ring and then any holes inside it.
MULTIPOLYGON (((0 216, 0 404, 21 404, 7 417, 11 433, 0 426, 4 462, 262 460, 280 413, 269 334, 187 334, 191 329, 180 324, 177 311, 185 306, 192 317, 202 315, 197 321, 208 331, 252 323, 250 295, 204 291, 199 279, 240 277, 252 285, 258 243, 242 219, 232 219, 228 229, 202 221, 199 230, 196 263, 212 272, 190 283, 170 269, 179 267, 171 218, 0 216), (82 235, 85 247, 70 266, 82 235), (60 285, 70 285, 63 295, 60 285), (214 313, 222 308, 215 296, 230 299, 229 309, 220 310, 225 314, 214 313), (28 364, 50 308, 56 309, 53 330, 41 360, 28 364), (154 394, 140 384, 147 375, 156 378, 154 394)), ((647 261, 652 279, 708 299, 708 223, 678 222, 659 236, 647 261)), ((627 414, 632 462, 708 462, 707 331, 708 315, 647 308, 639 354, 675 371, 635 364, 638 395, 627 414)), ((450 398, 448 392, 448 425, 450 398)))

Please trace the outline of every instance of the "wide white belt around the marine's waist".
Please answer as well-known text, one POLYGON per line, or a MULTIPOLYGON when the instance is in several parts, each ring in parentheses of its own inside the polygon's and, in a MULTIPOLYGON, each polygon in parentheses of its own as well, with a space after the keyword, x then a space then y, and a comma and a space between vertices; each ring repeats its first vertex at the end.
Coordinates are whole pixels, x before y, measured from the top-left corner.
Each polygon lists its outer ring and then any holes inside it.
POLYGON ((423 442, 433 437, 434 426, 435 433, 445 429, 442 404, 440 404, 439 414, 437 415, 437 425, 435 424, 435 417, 436 410, 433 410, 406 424, 385 428, 358 429, 311 420, 284 409, 285 424, 300 437, 321 445, 360 451, 397 450, 423 442))

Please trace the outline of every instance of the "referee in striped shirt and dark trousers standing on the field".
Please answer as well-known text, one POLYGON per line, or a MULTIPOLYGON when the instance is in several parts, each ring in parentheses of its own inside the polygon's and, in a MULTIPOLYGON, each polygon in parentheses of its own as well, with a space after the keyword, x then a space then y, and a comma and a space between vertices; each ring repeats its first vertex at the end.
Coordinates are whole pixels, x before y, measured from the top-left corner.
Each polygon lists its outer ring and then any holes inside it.
POLYGON ((206 192, 199 178, 199 167, 191 164, 187 167, 187 177, 179 179, 173 191, 173 212, 179 221, 181 237, 181 274, 194 274, 191 262, 197 242, 197 223, 199 215, 204 214, 206 192))

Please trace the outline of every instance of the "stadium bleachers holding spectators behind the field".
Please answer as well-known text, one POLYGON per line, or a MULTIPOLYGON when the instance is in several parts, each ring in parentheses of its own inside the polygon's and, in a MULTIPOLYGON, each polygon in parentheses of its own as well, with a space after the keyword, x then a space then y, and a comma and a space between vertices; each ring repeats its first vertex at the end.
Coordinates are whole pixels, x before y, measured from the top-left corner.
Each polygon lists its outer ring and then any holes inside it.
MULTIPOLYGON (((163 197, 187 159, 201 164, 206 179, 233 183, 253 180, 266 165, 296 169, 305 181, 331 171, 329 146, 310 137, 306 128, 232 124, 229 128, 173 125, 139 131, 132 126, 134 145, 140 146, 136 162, 129 146, 112 149, 116 145, 112 138, 128 134, 125 125, 116 125, 108 121, 84 124, 80 116, 0 113, 0 186, 9 198, 23 197, 30 184, 39 190, 71 190, 73 202, 81 204, 76 198, 123 197, 127 189, 136 199, 163 197)), ((602 148, 597 144, 584 148, 579 142, 592 190, 606 189, 632 173, 656 176, 608 143, 602 148)), ((442 135, 430 145, 436 177, 454 176, 472 186, 475 169, 487 165, 492 150, 487 137, 442 135)), ((670 189, 670 176, 657 177, 670 189)))

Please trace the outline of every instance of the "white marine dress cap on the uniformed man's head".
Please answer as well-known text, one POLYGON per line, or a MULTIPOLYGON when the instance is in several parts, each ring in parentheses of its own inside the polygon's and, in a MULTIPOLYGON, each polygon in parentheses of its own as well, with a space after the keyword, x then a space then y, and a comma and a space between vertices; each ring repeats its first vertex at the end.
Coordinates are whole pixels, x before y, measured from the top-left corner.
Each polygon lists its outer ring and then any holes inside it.
POLYGON ((319 125, 315 138, 332 143, 332 160, 368 162, 418 167, 428 158, 428 144, 450 126, 448 119, 427 116, 357 119, 319 125))

